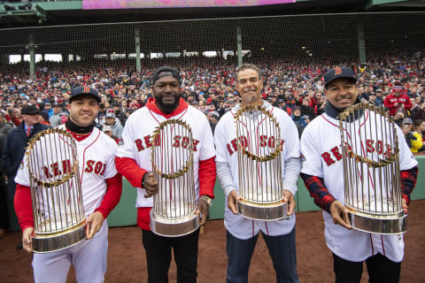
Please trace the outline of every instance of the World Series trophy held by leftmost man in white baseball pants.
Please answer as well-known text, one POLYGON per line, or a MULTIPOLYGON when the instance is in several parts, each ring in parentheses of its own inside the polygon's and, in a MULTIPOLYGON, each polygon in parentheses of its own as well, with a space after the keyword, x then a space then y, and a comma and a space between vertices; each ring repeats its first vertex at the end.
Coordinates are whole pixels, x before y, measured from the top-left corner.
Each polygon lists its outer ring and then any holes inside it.
POLYGON ((86 238, 78 158, 73 136, 53 128, 35 134, 27 147, 35 253, 66 249, 86 238))

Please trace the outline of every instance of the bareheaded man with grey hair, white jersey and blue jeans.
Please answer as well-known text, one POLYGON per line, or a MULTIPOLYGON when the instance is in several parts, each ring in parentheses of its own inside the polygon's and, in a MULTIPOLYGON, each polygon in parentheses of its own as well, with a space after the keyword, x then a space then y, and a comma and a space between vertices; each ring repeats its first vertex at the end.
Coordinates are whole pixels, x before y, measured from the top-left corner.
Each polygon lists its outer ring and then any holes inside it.
POLYGON ((242 98, 231 111, 221 117, 215 127, 214 142, 220 185, 226 195, 225 226, 227 233, 227 282, 247 282, 252 252, 259 232, 272 256, 277 282, 298 282, 295 248, 295 200, 301 163, 299 160, 298 131, 285 111, 261 100, 263 80, 256 65, 241 65, 236 75, 236 88, 242 98), (270 111, 281 127, 282 176, 285 201, 288 202, 288 220, 260 221, 243 218, 237 213, 239 199, 238 157, 236 146, 235 113, 249 104, 270 111))

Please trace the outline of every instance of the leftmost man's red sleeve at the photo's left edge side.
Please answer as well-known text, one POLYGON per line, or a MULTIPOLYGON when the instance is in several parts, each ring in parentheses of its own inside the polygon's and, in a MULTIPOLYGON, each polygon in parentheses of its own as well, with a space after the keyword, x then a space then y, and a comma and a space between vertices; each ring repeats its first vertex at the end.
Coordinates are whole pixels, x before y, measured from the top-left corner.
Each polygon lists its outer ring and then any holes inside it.
POLYGON ((34 227, 33 203, 31 202, 31 190, 27 186, 16 184, 15 198, 16 216, 19 220, 20 230, 34 227))

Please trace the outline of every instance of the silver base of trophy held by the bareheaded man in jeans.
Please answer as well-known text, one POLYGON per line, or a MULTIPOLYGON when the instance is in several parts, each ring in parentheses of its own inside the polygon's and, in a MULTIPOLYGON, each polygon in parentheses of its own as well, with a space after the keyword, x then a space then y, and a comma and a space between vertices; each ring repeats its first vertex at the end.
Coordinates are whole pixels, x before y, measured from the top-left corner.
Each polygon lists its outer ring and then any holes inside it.
POLYGON ((237 210, 241 216, 264 221, 288 219, 287 206, 288 203, 283 202, 259 204, 247 202, 242 199, 237 202, 237 210))

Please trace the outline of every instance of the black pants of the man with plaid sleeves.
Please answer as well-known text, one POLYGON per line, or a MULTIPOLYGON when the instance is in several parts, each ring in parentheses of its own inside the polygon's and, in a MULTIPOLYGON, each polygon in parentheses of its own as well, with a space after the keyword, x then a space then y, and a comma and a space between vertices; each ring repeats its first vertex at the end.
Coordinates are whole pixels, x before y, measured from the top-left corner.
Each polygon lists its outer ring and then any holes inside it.
MULTIPOLYGON (((334 256, 334 272, 336 283, 359 283, 363 273, 363 262, 350 262, 334 256)), ((401 263, 394 263, 387 257, 376 254, 366 260, 369 283, 398 283, 401 263)))

